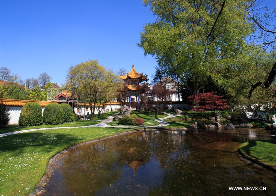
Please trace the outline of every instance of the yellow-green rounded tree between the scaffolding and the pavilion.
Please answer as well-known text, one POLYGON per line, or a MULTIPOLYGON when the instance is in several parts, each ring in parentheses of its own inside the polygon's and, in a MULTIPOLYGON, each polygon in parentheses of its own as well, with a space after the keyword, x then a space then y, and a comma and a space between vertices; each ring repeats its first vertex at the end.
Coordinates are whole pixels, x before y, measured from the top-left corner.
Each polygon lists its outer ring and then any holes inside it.
POLYGON ((89 103, 90 120, 93 120, 95 110, 101 112, 100 106, 104 107, 107 102, 115 99, 118 83, 117 74, 106 70, 97 60, 72 66, 67 74, 67 85, 72 92, 89 103))

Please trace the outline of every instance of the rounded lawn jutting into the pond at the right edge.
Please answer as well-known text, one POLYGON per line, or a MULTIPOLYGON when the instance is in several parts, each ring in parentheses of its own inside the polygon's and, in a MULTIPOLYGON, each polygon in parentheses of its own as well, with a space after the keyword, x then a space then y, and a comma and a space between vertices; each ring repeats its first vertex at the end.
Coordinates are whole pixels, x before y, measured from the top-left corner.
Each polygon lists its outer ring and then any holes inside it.
POLYGON ((276 169, 276 140, 247 141, 240 146, 247 157, 276 169))

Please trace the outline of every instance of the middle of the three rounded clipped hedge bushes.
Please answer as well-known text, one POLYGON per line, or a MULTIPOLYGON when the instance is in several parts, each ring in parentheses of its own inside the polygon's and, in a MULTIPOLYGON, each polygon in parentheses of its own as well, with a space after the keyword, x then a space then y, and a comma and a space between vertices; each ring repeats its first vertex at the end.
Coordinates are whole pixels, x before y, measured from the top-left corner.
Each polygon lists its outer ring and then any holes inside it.
POLYGON ((59 125, 63 123, 63 110, 59 104, 48 104, 46 105, 42 123, 45 125, 59 125))

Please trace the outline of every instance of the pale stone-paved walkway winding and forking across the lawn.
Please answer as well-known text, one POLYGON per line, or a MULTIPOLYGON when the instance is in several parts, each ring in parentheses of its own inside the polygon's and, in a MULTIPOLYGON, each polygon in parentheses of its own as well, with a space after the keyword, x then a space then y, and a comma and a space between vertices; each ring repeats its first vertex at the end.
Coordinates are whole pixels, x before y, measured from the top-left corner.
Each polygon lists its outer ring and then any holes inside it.
POLYGON ((4 133, 0 134, 0 137, 5 137, 8 135, 13 135, 13 134, 19 134, 19 133, 26 133, 30 131, 37 131, 37 130, 50 130, 50 129, 73 129, 73 128, 85 128, 85 127, 115 127, 115 128, 153 128, 153 127, 163 127, 167 126, 170 123, 164 121, 164 119, 172 118, 175 116, 182 116, 182 115, 175 115, 167 112, 163 112, 164 114, 167 114, 168 116, 160 118, 160 119, 155 119, 159 125, 153 125, 153 126, 112 126, 108 125, 108 123, 111 123, 113 121, 113 118, 115 115, 118 115, 118 113, 110 115, 107 117, 107 119, 101 120, 101 123, 95 124, 95 125, 88 125, 88 126, 70 126, 70 127, 51 127, 51 128, 39 128, 39 129, 28 129, 28 130, 21 130, 21 131, 14 131, 14 132, 9 132, 9 133, 4 133))

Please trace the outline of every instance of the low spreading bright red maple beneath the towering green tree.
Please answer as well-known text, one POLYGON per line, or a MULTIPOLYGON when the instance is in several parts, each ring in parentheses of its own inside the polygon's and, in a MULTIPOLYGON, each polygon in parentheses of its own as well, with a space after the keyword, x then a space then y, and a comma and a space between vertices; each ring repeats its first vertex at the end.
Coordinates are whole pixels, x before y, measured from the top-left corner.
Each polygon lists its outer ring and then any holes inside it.
POLYGON ((215 95, 215 92, 205 92, 188 96, 188 101, 192 106, 191 111, 225 110, 228 108, 228 104, 227 100, 222 97, 215 95))

